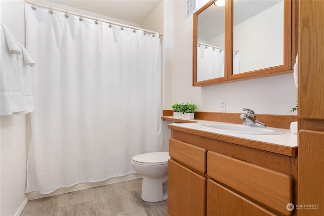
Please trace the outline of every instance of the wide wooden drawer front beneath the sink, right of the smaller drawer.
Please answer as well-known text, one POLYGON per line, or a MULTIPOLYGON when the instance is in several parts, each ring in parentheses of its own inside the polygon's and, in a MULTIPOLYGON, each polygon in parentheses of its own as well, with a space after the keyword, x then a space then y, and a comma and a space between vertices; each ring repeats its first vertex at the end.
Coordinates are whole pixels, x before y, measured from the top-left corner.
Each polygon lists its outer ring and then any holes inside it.
POLYGON ((290 175, 209 151, 207 174, 283 215, 291 215, 293 178, 290 175))

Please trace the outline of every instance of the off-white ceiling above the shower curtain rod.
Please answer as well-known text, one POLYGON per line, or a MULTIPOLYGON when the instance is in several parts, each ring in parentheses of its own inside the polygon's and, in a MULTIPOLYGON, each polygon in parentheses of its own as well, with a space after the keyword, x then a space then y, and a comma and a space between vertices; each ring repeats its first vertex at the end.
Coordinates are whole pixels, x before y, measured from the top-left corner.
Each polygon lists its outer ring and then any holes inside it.
POLYGON ((50 0, 49 2, 141 25, 161 0, 50 0))

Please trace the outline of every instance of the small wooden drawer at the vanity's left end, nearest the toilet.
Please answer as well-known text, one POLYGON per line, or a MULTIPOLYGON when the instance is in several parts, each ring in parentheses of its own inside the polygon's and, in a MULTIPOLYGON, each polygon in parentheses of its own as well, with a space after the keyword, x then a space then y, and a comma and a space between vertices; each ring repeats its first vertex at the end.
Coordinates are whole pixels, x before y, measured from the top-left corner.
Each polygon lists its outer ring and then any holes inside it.
POLYGON ((169 140, 169 155, 199 172, 206 173, 207 171, 207 150, 204 148, 171 138, 169 140))

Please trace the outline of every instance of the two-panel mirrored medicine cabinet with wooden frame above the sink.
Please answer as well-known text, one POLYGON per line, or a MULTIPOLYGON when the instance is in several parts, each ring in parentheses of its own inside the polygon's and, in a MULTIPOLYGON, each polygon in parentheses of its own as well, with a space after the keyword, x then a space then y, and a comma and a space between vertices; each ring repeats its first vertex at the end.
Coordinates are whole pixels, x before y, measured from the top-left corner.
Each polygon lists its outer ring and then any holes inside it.
POLYGON ((295 1, 214 2, 193 15, 194 86, 292 72, 295 1))

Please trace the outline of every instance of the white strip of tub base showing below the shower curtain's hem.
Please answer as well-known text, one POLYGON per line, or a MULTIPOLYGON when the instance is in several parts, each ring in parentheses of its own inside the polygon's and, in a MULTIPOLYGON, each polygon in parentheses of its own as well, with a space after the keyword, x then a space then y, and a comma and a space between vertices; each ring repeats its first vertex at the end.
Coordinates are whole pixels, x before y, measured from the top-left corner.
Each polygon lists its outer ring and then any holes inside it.
POLYGON ((80 183, 80 184, 74 185, 69 188, 59 188, 56 191, 54 191, 53 193, 46 194, 46 195, 43 195, 43 194, 39 193, 38 191, 33 191, 33 192, 28 193, 28 199, 29 200, 39 199, 39 198, 54 196, 54 195, 58 195, 58 194, 69 193, 72 191, 84 190, 87 188, 94 188, 94 187, 109 185, 109 184, 113 184, 113 183, 117 183, 117 182, 124 182, 124 181, 138 179, 138 178, 142 178, 142 176, 135 173, 135 174, 129 174, 127 176, 110 178, 110 179, 107 179, 106 181, 102 181, 102 182, 80 183))

